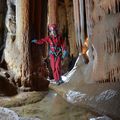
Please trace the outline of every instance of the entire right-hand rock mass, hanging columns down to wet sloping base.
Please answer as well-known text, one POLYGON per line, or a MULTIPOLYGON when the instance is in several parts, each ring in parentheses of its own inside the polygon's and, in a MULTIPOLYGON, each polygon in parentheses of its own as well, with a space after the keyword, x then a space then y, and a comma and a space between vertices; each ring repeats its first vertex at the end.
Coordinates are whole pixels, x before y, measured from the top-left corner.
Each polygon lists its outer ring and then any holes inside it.
POLYGON ((73 104, 86 104, 119 119, 120 1, 81 2, 76 0, 73 4, 74 10, 77 10, 75 30, 79 30, 76 33, 80 48, 78 59, 74 68, 66 75, 67 83, 59 88, 51 87, 73 104), (83 9, 84 12, 81 11, 83 9))

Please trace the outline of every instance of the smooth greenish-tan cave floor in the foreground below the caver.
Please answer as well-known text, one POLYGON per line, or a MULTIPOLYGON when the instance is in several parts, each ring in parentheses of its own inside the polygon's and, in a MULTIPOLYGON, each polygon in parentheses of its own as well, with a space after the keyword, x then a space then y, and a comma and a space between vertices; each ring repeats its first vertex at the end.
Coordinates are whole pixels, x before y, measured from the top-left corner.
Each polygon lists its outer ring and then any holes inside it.
MULTIPOLYGON (((27 95, 25 94, 20 96, 26 99, 29 96, 26 97, 27 95)), ((20 106, 17 106, 18 104, 16 105, 15 101, 12 105, 10 105, 10 102, 7 102, 9 104, 4 104, 3 106, 8 106, 9 109, 15 111, 19 117, 39 118, 40 120, 89 120, 89 118, 97 116, 95 113, 84 107, 78 107, 67 103, 61 96, 52 90, 49 90, 48 93, 44 93, 44 95, 39 92, 34 94, 36 95, 28 98, 31 101, 30 104, 22 102, 20 106), (40 95, 42 99, 38 99, 38 96, 40 95), (36 101, 35 96, 37 96, 36 101)), ((9 100, 8 98, 6 99, 9 100)))

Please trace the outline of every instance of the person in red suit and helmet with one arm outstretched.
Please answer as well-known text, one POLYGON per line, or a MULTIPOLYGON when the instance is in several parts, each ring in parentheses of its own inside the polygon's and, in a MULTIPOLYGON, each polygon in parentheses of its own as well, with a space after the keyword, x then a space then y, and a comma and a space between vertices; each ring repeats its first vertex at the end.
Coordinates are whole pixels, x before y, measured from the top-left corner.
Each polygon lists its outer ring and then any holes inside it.
POLYGON ((55 83, 60 85, 64 83, 61 79, 61 61, 67 56, 65 41, 62 35, 58 34, 58 28, 55 24, 48 25, 48 36, 40 40, 32 40, 35 44, 48 43, 50 66, 52 68, 55 83))

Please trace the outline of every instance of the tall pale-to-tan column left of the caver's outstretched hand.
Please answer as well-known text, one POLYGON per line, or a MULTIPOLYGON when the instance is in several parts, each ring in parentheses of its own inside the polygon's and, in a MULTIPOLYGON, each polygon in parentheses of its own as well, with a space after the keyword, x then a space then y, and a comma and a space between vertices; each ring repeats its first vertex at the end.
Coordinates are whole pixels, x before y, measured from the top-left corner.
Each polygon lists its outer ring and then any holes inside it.
POLYGON ((30 28, 29 28, 29 0, 18 0, 16 5, 16 42, 19 44, 20 72, 22 85, 29 84, 30 76, 30 28), (24 10, 24 11, 23 11, 24 10), (26 80, 27 79, 27 80, 26 80), (28 83, 27 83, 28 82, 28 83))

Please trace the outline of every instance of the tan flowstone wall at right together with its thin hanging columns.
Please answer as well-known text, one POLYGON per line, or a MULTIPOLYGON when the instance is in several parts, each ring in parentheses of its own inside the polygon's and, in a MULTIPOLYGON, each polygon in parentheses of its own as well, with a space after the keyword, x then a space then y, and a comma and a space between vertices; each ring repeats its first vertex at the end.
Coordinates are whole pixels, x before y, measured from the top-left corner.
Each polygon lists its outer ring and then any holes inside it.
POLYGON ((119 3, 73 0, 77 45, 87 42, 93 81, 119 81, 119 3))

